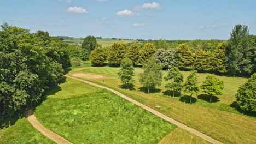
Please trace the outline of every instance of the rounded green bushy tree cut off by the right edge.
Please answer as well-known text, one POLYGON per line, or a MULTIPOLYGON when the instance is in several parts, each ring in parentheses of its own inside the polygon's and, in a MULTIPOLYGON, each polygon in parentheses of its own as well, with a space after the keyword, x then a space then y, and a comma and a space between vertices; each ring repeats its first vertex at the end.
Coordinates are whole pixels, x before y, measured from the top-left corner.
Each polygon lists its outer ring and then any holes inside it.
POLYGON ((242 110, 256 112, 256 73, 238 89, 236 100, 242 110))

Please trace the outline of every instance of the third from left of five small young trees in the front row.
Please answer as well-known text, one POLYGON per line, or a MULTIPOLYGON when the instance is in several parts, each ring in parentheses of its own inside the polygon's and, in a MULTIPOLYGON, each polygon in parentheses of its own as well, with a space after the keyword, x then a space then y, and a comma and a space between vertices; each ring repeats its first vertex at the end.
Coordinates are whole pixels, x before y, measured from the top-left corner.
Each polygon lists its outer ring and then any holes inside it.
POLYGON ((182 91, 183 87, 183 75, 181 71, 177 67, 171 68, 168 71, 168 75, 164 77, 165 81, 171 81, 171 83, 167 83, 165 85, 166 88, 172 88, 173 89, 173 95, 174 97, 174 91, 182 91))

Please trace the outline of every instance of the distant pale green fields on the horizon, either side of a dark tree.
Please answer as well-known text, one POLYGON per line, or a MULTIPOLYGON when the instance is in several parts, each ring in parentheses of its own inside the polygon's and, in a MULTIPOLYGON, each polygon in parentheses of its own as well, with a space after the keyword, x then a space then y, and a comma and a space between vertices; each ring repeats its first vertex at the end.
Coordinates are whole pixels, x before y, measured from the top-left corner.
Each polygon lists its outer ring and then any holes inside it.
MULTIPOLYGON (((62 40, 63 42, 67 43, 67 44, 82 44, 84 39, 78 39, 78 38, 74 38, 74 39, 64 39, 62 40)), ((127 43, 133 43, 133 42, 137 42, 137 40, 112 40, 112 39, 97 39, 97 43, 101 44, 102 47, 108 47, 111 46, 113 43, 121 43, 121 44, 127 44, 127 43)))

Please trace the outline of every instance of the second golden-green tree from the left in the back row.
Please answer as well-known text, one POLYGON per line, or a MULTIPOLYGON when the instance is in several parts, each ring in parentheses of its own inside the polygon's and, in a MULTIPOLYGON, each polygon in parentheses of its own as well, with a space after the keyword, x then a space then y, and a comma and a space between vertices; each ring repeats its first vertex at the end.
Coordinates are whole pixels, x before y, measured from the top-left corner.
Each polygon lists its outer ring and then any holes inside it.
POLYGON ((108 62, 109 64, 119 65, 124 59, 126 53, 126 45, 114 43, 109 49, 108 62))

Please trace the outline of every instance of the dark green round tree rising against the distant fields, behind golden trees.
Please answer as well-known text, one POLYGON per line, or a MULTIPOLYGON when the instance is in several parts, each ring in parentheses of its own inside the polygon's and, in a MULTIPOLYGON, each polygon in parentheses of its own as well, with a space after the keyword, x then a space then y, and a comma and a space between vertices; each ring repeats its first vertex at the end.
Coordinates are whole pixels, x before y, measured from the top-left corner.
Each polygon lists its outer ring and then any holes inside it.
POLYGON ((82 49, 86 49, 89 53, 98 47, 97 40, 94 36, 88 36, 84 38, 82 49))

